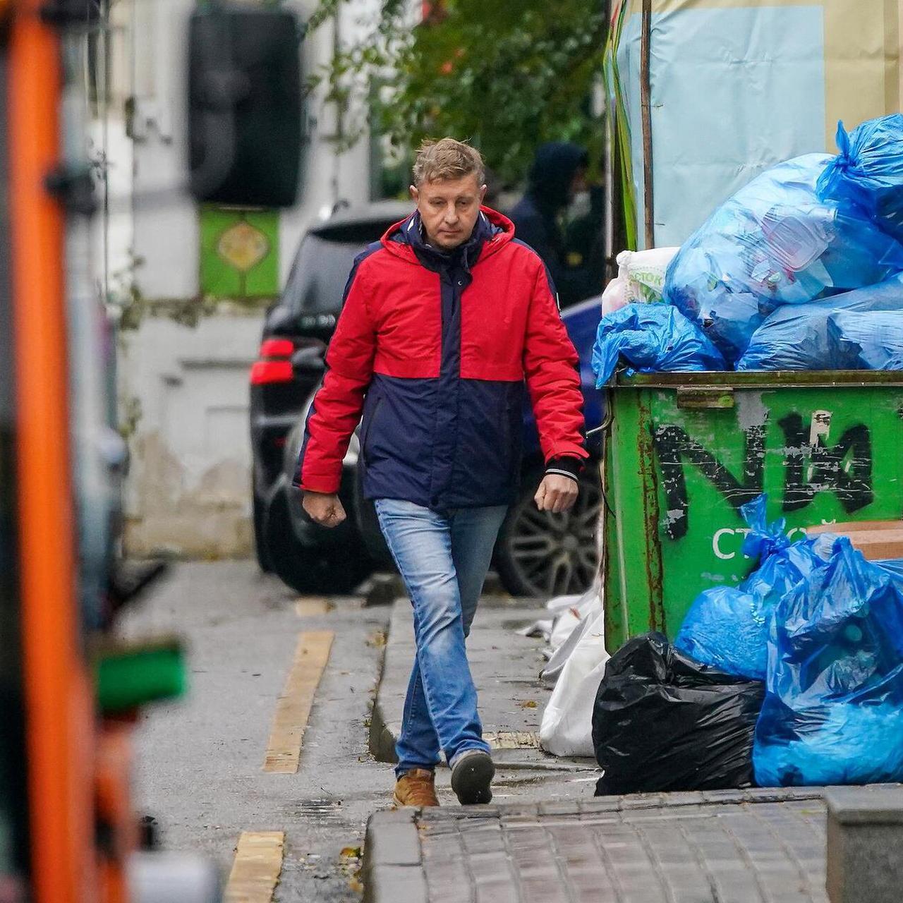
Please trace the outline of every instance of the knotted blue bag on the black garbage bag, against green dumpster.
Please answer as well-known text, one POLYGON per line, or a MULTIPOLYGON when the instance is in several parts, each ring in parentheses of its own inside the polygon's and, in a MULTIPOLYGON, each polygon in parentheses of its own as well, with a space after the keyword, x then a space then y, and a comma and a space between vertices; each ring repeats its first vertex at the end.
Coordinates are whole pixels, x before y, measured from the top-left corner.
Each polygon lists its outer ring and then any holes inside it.
POLYGON ((753 680, 765 680, 768 628, 777 602, 824 565, 833 539, 823 536, 791 545, 780 518, 768 525, 766 497, 748 502, 740 514, 749 526, 743 554, 759 559, 739 586, 715 586, 696 597, 675 638, 675 647, 703 665, 753 680))

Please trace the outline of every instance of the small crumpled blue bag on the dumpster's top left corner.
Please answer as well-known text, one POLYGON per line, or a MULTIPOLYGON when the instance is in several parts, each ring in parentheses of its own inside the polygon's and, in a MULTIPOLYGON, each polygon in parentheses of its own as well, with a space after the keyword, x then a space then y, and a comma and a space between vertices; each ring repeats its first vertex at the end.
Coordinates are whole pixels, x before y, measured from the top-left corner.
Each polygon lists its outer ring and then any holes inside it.
POLYGON ((702 330, 669 304, 628 304, 602 317, 592 349, 596 388, 609 381, 619 358, 639 373, 727 368, 702 330))

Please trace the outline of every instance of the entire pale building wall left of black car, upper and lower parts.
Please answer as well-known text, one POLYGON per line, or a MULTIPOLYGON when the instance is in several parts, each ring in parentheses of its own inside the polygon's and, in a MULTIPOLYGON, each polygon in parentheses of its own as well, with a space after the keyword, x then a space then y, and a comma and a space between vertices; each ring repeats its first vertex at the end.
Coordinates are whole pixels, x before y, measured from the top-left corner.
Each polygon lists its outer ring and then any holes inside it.
MULTIPOLYGON (((289 5, 302 19, 315 6, 311 0, 289 5)), ((135 137, 130 223, 121 234, 129 235, 144 318, 136 330, 120 333, 118 371, 120 419, 129 425, 132 453, 126 485, 126 548, 132 554, 165 549, 210 557, 251 549, 247 371, 272 297, 220 299, 195 326, 172 319, 180 304, 217 283, 205 276, 201 284, 199 210, 182 190, 185 40, 194 6, 194 0, 132 0, 130 7, 135 137)), ((353 40, 363 27, 360 16, 377 9, 378 0, 361 0, 343 10, 339 40, 353 40)), ((331 23, 305 40, 305 72, 330 60, 334 40, 331 23)), ((368 142, 336 153, 337 117, 323 94, 321 88, 308 106, 299 203, 265 228, 268 253, 278 256, 275 291, 308 224, 339 200, 368 200, 368 142)), ((218 227, 205 216, 209 244, 210 229, 218 227)), ((219 246, 213 247, 203 253, 215 267, 219 246)))

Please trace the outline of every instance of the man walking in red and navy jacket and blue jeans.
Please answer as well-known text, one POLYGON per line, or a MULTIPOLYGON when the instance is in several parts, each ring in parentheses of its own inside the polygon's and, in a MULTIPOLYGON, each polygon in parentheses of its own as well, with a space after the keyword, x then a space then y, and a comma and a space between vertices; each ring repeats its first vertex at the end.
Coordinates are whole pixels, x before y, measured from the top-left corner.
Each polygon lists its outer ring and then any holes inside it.
POLYGON ((483 175, 468 144, 420 149, 417 209, 352 267, 295 475, 312 519, 339 525, 342 459, 363 413, 364 492, 414 604, 397 805, 438 805, 442 752, 462 804, 492 798, 464 641, 517 495, 525 382, 547 463, 541 510, 573 506, 586 458, 554 288, 510 220, 480 206, 483 175))

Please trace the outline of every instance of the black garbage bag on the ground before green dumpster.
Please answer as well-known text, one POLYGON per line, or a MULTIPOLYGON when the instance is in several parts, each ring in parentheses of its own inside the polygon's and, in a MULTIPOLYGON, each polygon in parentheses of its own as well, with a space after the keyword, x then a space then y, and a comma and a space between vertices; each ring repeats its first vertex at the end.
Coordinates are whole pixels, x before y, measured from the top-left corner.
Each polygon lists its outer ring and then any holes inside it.
POLYGON ((750 787, 765 685, 701 665, 660 633, 609 659, 592 712, 596 796, 750 787))

